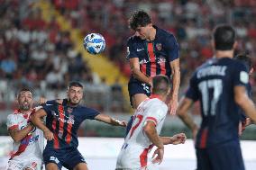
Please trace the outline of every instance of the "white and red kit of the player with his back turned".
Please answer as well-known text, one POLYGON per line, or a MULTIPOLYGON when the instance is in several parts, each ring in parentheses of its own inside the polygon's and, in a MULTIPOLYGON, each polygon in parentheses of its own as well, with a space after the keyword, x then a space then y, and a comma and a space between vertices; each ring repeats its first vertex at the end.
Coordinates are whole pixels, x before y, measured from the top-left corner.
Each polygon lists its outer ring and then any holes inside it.
POLYGON ((146 99, 138 106, 133 116, 132 128, 117 157, 116 169, 141 169, 151 164, 148 153, 153 145, 143 127, 147 121, 153 121, 160 134, 167 112, 168 106, 158 98, 146 99))

